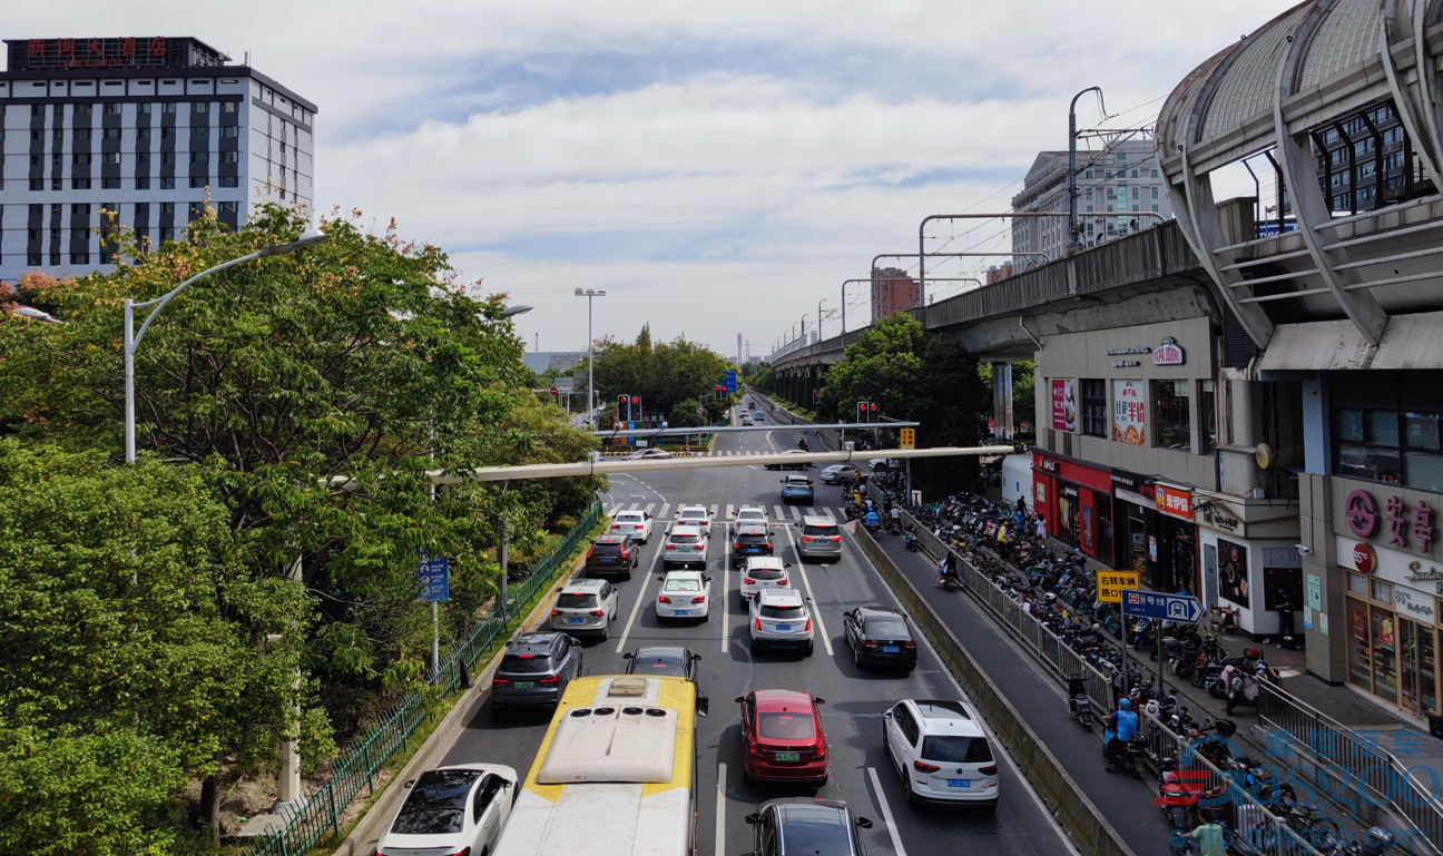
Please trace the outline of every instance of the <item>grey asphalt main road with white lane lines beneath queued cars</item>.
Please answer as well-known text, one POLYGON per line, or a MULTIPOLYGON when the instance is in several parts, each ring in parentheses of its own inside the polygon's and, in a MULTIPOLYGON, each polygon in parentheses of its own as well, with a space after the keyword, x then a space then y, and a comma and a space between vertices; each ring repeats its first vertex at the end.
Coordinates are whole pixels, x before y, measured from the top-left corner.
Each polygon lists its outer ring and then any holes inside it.
MULTIPOLYGON (((768 434, 730 434, 717 439, 723 452, 781 452, 795 446, 789 432, 768 434)), ((812 475, 815 475, 815 469, 812 475)), ((986 847, 991 856, 1075 852, 1052 817, 1032 794, 1006 755, 1001 764, 1001 801, 997 811, 964 810, 948 805, 908 808, 895 768, 882 749, 882 713, 905 697, 964 699, 964 693, 941 667, 937 654, 924 642, 918 668, 911 676, 886 671, 859 671, 841 637, 841 613, 859 603, 896 605, 890 589, 876 575, 860 550, 846 536, 843 559, 835 564, 802 564, 795 553, 795 525, 776 525, 778 554, 799 569, 804 593, 810 595, 818 616, 815 652, 810 658, 794 654, 753 657, 745 616, 737 612, 740 577, 723 567, 727 544, 724 515, 727 507, 765 505, 776 515, 782 473, 760 466, 711 471, 667 471, 648 473, 645 481, 629 475, 612 476, 610 492, 602 499, 613 507, 651 507, 654 515, 675 512, 681 504, 717 508, 713 524, 709 567, 713 592, 726 592, 724 615, 697 625, 657 621, 651 602, 661 575, 658 550, 662 538, 654 536, 644 547, 642 564, 631 582, 620 583, 622 602, 610 639, 590 644, 584 655, 587 674, 623 671, 622 652, 646 644, 685 644, 703 657, 700 686, 711 699, 711 716, 698 729, 700 769, 697 777, 698 850, 701 856, 736 856, 752 849, 752 829, 745 816, 758 803, 781 795, 817 795, 844 800, 859 814, 870 817, 874 827, 864 831, 867 849, 883 856, 924 856, 952 852, 955 847, 986 847), (824 626, 823 626, 824 625, 824 626), (743 781, 740 762, 740 723, 733 699, 753 689, 801 689, 827 700, 823 720, 831 748, 830 781, 823 788, 762 787, 743 781), (880 785, 880 791, 879 791, 880 785), (719 823, 720 816, 720 823, 719 823), (889 823, 887 818, 892 818, 889 823)), ((834 488, 818 485, 818 511, 833 507, 834 488)), ((786 508, 788 523, 794 520, 786 508)), ((775 520, 775 517, 773 517, 775 520)), ((713 608, 720 603, 714 603, 713 608)), ((544 716, 491 717, 489 706, 460 733, 446 754, 444 764, 470 761, 501 762, 525 771, 545 732, 544 716)), ((996 741, 994 741, 994 745, 996 741)), ((1000 746, 1000 745, 999 745, 1000 746)))

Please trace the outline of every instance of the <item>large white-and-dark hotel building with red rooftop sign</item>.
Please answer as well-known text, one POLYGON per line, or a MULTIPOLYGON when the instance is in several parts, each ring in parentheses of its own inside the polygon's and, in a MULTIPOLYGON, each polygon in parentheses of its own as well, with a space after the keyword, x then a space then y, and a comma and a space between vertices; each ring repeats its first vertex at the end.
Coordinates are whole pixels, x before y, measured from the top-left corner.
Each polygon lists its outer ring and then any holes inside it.
POLYGON ((209 192, 238 228, 313 201, 316 105, 192 38, 6 40, 0 280, 111 264, 101 211, 177 240, 209 192))

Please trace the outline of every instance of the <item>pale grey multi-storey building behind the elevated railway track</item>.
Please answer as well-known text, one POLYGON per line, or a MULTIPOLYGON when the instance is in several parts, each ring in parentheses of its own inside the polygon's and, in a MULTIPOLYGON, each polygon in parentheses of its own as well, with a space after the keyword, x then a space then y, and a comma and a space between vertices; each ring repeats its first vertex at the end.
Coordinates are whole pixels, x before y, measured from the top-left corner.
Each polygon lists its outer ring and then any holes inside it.
MULTIPOLYGON (((1159 178, 1153 140, 1115 141, 1098 152, 1078 152, 1078 221, 1082 245, 1105 241, 1153 225, 1154 218, 1127 217, 1133 212, 1172 217, 1172 206, 1159 178), (1111 217, 1107 217, 1110 215, 1111 217)), ((1039 152, 1012 198, 1013 211, 1068 211, 1068 153, 1039 152)), ((1071 237, 1065 217, 1016 218, 1012 225, 1013 263, 1022 268, 1061 258, 1071 237), (1027 256, 1042 253, 1043 256, 1027 256)))

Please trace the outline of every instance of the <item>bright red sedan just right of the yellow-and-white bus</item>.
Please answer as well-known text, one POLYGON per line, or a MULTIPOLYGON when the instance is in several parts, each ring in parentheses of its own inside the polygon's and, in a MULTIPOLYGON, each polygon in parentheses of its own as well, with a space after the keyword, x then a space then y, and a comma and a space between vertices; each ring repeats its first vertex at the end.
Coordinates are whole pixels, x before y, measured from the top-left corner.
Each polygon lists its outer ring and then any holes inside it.
POLYGON ((756 690, 742 706, 742 774, 749 779, 827 784, 823 699, 798 690, 756 690))

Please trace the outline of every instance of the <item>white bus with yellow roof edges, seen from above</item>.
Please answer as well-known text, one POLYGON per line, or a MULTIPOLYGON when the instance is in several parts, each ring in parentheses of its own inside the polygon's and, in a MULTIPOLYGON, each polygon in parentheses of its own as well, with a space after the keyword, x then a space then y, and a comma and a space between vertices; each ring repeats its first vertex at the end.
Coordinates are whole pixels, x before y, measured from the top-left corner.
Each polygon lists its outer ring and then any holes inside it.
POLYGON ((681 677, 574 678, 495 856, 696 853, 696 735, 706 709, 681 677))

